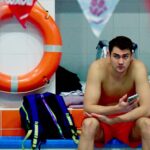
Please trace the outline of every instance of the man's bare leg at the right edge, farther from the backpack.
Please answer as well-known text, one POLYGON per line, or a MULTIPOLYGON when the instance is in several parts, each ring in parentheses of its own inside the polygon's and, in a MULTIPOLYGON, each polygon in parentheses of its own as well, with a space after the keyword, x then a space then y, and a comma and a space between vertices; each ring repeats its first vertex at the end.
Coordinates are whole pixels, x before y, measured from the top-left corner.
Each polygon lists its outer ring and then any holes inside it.
POLYGON ((142 139, 142 150, 150 150, 150 118, 140 118, 133 129, 133 139, 142 139))

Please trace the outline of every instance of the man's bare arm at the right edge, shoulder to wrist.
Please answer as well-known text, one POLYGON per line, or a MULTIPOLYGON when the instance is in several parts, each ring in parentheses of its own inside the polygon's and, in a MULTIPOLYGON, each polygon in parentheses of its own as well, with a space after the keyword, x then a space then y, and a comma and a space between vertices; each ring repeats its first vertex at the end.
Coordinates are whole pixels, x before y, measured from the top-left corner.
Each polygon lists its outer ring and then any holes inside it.
POLYGON ((134 76, 136 92, 139 95, 139 107, 119 116, 122 121, 131 121, 142 116, 150 116, 150 86, 147 78, 147 70, 143 63, 136 61, 134 76))

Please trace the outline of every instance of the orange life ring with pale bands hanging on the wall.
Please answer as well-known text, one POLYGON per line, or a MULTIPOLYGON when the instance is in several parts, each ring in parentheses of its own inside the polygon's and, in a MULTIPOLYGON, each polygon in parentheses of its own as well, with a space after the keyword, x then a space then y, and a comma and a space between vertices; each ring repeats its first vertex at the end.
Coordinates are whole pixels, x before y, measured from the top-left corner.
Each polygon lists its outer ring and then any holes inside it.
MULTIPOLYGON (((0 4, 0 21, 13 16, 7 4, 0 4)), ((0 72, 0 90, 7 92, 26 92, 43 86, 56 71, 62 52, 61 35, 55 21, 39 6, 34 6, 28 21, 34 24, 42 33, 44 54, 31 72, 13 77, 0 72)))

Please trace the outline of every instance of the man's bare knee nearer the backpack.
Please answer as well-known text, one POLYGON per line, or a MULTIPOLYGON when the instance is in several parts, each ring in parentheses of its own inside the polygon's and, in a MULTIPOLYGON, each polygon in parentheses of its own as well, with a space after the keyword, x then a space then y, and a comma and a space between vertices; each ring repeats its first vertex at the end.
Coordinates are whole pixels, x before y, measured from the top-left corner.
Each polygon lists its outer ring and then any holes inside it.
POLYGON ((87 118, 82 123, 82 133, 94 136, 99 128, 99 121, 95 118, 87 118))

